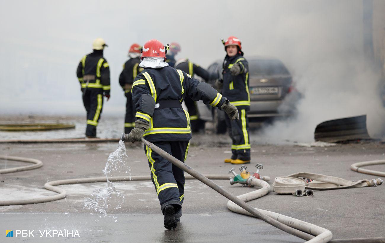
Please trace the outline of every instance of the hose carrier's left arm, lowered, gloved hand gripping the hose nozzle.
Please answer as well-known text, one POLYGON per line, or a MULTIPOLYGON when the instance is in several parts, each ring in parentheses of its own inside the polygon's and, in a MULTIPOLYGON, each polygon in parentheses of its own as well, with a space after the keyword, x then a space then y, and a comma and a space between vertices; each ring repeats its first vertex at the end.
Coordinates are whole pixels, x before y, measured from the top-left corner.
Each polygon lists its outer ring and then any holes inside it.
MULTIPOLYGON (((147 74, 149 75, 149 74, 147 74)), ((154 114, 155 99, 151 95, 151 89, 143 74, 137 75, 132 84, 132 100, 136 107, 135 127, 129 133, 127 139, 131 142, 141 141, 144 131, 149 128, 150 120, 154 114)))

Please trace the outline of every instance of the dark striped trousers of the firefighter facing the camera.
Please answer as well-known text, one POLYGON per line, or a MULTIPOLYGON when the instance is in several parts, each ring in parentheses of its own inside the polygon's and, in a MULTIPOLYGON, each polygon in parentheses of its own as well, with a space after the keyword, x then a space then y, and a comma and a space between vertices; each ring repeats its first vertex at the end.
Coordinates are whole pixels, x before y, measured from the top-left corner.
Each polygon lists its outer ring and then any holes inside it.
POLYGON ((231 145, 231 159, 250 160, 249 119, 245 109, 238 110, 239 121, 231 121, 226 116, 226 125, 233 144, 231 145))

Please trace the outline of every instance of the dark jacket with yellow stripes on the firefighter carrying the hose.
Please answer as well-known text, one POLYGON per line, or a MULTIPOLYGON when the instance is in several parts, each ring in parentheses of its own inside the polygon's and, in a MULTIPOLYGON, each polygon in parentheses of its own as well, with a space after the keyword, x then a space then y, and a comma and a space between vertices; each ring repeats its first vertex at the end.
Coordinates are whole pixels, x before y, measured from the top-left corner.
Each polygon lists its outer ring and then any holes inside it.
POLYGON ((150 142, 189 141, 190 117, 181 103, 188 96, 194 101, 221 107, 226 97, 205 82, 170 66, 145 68, 132 84, 136 119, 149 123, 143 137, 150 142))

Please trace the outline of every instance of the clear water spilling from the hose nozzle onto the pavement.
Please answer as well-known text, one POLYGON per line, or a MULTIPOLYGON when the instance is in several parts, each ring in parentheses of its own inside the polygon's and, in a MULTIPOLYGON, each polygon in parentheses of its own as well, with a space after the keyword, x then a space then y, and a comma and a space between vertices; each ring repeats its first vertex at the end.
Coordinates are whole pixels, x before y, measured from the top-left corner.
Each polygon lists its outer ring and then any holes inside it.
MULTIPOLYGON (((107 184, 103 189, 93 191, 91 197, 84 200, 84 207, 94 209, 96 213, 106 216, 109 210, 109 200, 114 196, 114 203, 117 203, 115 209, 121 208, 121 205, 124 203, 124 194, 115 188, 114 184, 109 181, 108 176, 114 176, 114 172, 117 171, 124 171, 131 178, 131 168, 124 163, 125 157, 128 157, 126 146, 121 140, 119 141, 118 148, 108 156, 107 163, 105 163, 105 168, 103 169, 104 176, 107 178, 107 184)), ((115 222, 117 221, 117 217, 112 216, 112 218, 114 218, 115 222)))

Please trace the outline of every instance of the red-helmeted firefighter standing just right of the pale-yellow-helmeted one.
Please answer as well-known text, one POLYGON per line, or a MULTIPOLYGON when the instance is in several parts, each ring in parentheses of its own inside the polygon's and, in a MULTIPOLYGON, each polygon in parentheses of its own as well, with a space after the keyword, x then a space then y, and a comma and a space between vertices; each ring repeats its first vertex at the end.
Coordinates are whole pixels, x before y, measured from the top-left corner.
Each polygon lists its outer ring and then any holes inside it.
POLYGON ((135 77, 142 72, 143 68, 139 67, 141 55, 141 47, 139 44, 132 44, 128 51, 129 60, 123 64, 123 70, 119 76, 119 84, 124 90, 124 95, 127 97, 126 102, 126 117, 124 119, 124 133, 130 133, 135 127, 135 104, 132 102, 131 87, 135 77))

